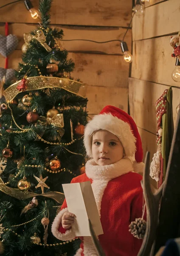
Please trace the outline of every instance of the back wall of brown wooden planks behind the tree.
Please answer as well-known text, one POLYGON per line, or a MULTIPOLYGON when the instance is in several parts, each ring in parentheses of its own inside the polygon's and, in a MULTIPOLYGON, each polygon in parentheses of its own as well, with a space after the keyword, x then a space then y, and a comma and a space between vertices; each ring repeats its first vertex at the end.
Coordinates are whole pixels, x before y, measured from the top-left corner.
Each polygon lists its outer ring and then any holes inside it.
MULTIPOLYGON (((12 0, 0 0, 0 6, 12 0)), ((39 0, 31 0, 38 9, 39 0)), ((121 40, 129 26, 132 0, 54 0, 51 8, 52 26, 64 30, 63 39, 89 39, 93 41, 121 40)), ((37 26, 39 20, 31 18, 22 2, 0 9, 0 34, 4 35, 5 22, 9 23, 9 33, 17 35, 17 49, 9 55, 9 68, 17 68, 21 61, 23 33, 37 26)), ((132 32, 125 38, 129 50, 132 32)), ((71 74, 87 84, 87 111, 89 116, 99 113, 105 105, 115 105, 124 111, 128 109, 129 64, 122 60, 119 42, 95 44, 87 41, 62 42, 75 62, 71 74)), ((0 67, 5 58, 0 55, 0 67)))

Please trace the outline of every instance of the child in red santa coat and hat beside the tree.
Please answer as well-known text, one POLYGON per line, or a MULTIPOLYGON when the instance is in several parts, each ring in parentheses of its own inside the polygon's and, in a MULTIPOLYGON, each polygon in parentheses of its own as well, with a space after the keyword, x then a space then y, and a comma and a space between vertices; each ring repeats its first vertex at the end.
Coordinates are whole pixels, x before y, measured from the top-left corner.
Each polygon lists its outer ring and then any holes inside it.
MULTIPOLYGON (((90 180, 104 231, 98 236, 106 256, 137 256, 142 240, 129 233, 129 224, 141 218, 143 170, 141 138, 134 120, 113 106, 106 106, 86 125, 85 173, 71 183, 90 180), (132 159, 135 157, 135 163, 132 159), (137 163, 138 162, 138 163, 137 163)), ((74 239, 71 224, 76 216, 68 212, 66 201, 52 224, 52 233, 62 241, 74 239)), ((91 237, 83 237, 76 256, 97 256, 91 237)))

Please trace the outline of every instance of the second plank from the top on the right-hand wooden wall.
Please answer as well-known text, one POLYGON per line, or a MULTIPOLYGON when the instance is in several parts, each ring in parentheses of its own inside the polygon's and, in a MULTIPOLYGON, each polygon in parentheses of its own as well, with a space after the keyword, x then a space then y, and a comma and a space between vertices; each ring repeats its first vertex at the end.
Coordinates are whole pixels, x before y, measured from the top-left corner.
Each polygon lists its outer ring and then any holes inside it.
POLYGON ((180 87, 180 82, 172 80, 175 58, 171 57, 173 48, 169 42, 170 36, 133 42, 134 59, 131 76, 158 84, 180 87))

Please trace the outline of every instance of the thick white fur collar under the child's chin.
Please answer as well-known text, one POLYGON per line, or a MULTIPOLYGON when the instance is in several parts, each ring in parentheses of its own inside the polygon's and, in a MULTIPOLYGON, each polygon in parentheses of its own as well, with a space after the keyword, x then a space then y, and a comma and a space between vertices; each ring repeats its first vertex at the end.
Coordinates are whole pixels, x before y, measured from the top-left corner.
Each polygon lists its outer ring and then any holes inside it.
POLYGON ((122 158, 116 163, 98 166, 94 160, 89 160, 85 166, 86 175, 92 180, 112 180, 128 172, 133 172, 132 162, 129 158, 122 158))

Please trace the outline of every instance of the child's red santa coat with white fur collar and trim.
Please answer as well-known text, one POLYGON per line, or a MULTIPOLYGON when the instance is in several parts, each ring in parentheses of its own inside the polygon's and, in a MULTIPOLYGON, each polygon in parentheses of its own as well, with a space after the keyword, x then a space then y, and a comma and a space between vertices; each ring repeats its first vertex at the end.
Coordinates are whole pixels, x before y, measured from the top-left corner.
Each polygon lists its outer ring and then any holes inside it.
MULTIPOLYGON (((90 180, 95 196, 103 235, 98 236, 106 256, 137 256, 142 240, 129 233, 129 224, 142 216, 142 176, 133 172, 132 163, 124 158, 108 166, 86 163, 86 173, 71 183, 90 180)), ((62 241, 75 238, 73 230, 62 228, 61 219, 68 210, 66 201, 52 224, 52 233, 62 241)), ((76 256, 97 256, 91 237, 83 237, 76 256)))

